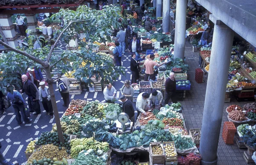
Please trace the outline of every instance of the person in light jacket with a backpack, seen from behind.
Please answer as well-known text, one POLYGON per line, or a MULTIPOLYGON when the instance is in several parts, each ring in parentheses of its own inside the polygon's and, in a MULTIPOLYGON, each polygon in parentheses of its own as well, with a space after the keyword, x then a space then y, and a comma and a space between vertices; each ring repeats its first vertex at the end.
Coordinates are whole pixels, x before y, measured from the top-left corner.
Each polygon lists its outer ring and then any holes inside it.
POLYGON ((62 72, 58 73, 57 76, 59 77, 57 79, 57 88, 59 89, 59 92, 61 93, 62 100, 64 104, 62 106, 69 106, 70 104, 70 98, 69 98, 69 81, 68 78, 63 75, 62 72), (59 84, 59 85, 58 85, 59 84))

